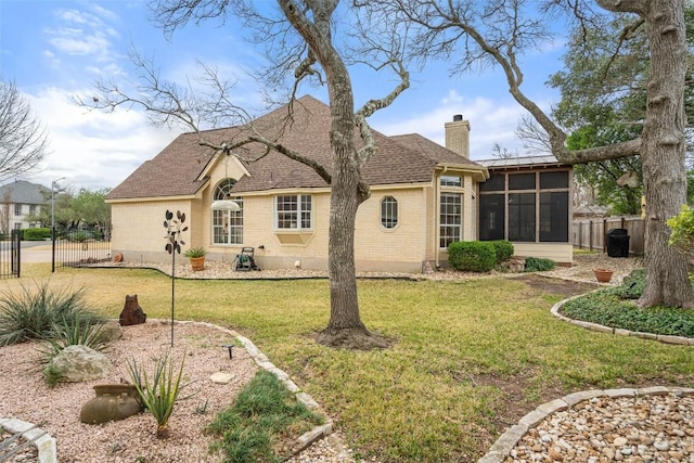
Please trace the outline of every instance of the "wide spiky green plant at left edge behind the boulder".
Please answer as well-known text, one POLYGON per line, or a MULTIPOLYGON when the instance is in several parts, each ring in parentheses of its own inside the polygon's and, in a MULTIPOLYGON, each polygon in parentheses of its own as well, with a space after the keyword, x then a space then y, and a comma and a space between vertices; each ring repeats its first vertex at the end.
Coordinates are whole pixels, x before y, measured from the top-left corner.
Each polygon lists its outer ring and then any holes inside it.
POLYGON ((87 308, 85 290, 62 287, 53 290, 48 281, 36 283, 36 288, 22 285, 20 292, 0 293, 0 346, 30 339, 50 339, 56 327, 73 330, 70 323, 104 319, 87 308))

